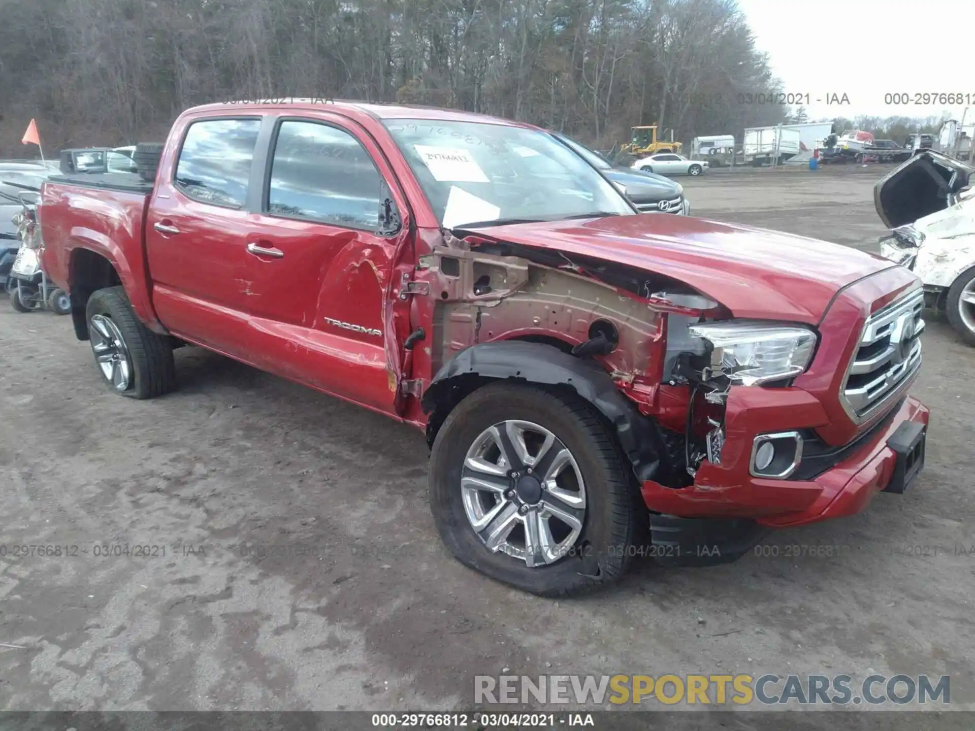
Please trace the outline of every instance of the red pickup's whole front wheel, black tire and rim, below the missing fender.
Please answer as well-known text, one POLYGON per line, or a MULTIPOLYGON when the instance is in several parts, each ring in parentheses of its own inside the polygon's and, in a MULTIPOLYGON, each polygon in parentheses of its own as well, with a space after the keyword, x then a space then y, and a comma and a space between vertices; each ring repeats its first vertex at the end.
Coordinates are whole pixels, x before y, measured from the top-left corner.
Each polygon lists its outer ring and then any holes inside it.
POLYGON ((590 404, 504 382, 448 415, 430 458, 430 507, 461 563, 540 596, 618 580, 645 518, 632 470, 590 404))

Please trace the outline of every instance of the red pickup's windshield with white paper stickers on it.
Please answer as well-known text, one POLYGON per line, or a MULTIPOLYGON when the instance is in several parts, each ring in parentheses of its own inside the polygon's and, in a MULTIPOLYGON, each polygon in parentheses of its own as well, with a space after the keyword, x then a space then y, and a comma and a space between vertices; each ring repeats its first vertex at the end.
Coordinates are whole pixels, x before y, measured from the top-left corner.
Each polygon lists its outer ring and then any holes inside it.
POLYGON ((447 120, 385 124, 446 228, 634 212, 600 173, 546 133, 447 120))

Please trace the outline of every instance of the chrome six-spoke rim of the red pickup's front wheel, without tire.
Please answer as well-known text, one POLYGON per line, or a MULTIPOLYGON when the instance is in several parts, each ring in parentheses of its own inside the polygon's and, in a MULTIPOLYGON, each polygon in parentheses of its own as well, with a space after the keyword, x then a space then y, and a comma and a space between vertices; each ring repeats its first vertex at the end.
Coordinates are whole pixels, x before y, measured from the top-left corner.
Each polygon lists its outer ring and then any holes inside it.
POLYGON ((586 488, 565 444, 530 421, 488 427, 464 458, 464 513, 489 551, 528 566, 564 558, 582 532, 586 488))

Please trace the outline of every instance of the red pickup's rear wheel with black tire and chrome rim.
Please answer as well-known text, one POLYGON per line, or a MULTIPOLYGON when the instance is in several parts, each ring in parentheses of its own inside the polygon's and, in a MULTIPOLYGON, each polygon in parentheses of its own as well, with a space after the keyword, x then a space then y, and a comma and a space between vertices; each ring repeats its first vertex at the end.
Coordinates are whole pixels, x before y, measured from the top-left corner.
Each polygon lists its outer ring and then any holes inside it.
POLYGON ((95 362, 109 389, 130 399, 151 399, 176 388, 169 338, 139 322, 124 288, 95 291, 85 316, 95 362))

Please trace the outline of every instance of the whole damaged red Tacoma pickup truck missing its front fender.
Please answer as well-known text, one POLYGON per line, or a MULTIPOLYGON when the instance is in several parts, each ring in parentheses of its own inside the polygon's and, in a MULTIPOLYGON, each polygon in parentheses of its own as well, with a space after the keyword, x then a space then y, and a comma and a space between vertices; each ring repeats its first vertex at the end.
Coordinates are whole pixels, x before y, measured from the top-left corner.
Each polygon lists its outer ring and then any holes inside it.
POLYGON ((154 181, 51 177, 38 218, 111 389, 173 390, 195 344, 424 429, 450 551, 537 594, 738 558, 923 464, 914 274, 638 213, 523 124, 202 106, 154 181))

